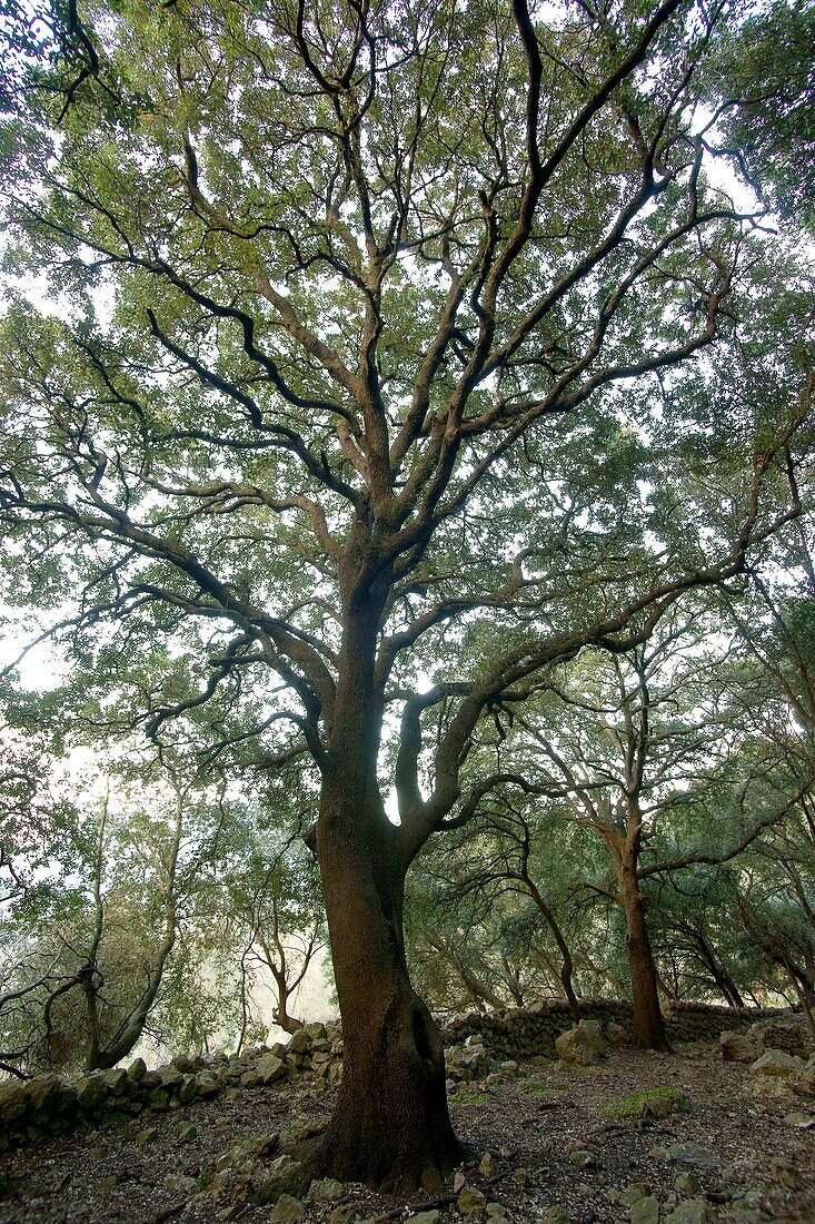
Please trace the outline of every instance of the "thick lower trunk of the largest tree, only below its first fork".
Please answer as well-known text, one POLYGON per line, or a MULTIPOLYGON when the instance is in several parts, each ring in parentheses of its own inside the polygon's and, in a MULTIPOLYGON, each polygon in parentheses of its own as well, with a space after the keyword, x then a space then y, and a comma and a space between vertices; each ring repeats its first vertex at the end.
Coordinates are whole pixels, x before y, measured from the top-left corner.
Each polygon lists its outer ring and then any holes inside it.
POLYGON ((441 1037, 408 976, 400 873, 377 870, 382 853, 372 864, 365 847, 344 841, 318 830, 321 862, 330 862, 324 889, 344 1078, 312 1163, 344 1181, 438 1192, 464 1152, 448 1113, 441 1037))

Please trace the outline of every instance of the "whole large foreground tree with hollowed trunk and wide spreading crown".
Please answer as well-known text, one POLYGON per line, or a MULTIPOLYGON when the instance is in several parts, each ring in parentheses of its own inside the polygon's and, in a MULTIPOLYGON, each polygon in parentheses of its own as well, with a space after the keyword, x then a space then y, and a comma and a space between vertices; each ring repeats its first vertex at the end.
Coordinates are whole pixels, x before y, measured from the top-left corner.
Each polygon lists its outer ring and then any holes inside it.
POLYGON ((460 1157, 403 892, 482 718, 798 513, 794 414, 722 392, 764 258, 706 176, 722 13, 70 0, 5 122, 16 594, 154 737, 213 704, 311 754, 345 1034, 312 1169, 460 1157))

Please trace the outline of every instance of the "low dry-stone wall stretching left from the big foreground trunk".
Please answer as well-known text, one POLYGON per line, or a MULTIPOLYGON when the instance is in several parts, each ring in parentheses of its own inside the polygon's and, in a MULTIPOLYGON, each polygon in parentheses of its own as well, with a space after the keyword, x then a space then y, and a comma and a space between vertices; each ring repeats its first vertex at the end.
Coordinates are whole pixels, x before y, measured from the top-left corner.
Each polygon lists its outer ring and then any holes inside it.
POLYGON ((94 1071, 77 1081, 58 1075, 0 1083, 0 1151, 78 1127, 117 1126, 144 1111, 165 1113, 221 1092, 263 1088, 302 1076, 335 1083, 343 1076, 339 1024, 307 1024, 290 1042, 242 1054, 176 1055, 148 1071, 94 1071))

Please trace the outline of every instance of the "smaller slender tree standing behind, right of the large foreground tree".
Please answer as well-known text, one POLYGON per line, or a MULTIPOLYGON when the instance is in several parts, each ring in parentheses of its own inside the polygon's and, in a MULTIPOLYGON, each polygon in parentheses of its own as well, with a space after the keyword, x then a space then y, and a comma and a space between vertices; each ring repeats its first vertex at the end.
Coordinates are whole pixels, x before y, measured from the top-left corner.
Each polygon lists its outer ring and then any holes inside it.
MULTIPOLYGON (((773 754, 753 759, 745 750, 733 707, 716 689, 716 660, 702 655, 705 632, 704 619, 666 617, 625 655, 584 655, 551 677, 549 692, 518 715, 502 745, 505 782, 521 799, 504 796, 492 818, 518 859, 502 862, 499 874, 535 897, 530 826, 546 821, 547 809, 551 820, 565 812, 600 838, 613 870, 609 895, 625 916, 631 1039, 644 1048, 668 1048, 646 881, 729 862, 800 798, 788 771, 777 776, 773 754)), ((602 876, 594 886, 607 887, 602 876)))

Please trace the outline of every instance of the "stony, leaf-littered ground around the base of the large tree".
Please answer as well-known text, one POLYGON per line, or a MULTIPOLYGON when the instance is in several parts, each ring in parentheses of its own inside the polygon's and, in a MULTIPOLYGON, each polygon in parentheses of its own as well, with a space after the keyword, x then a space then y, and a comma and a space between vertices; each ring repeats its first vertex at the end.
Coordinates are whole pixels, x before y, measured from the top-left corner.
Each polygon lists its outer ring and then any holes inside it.
POLYGON ((815 1099, 808 1109, 780 1084, 722 1061, 712 1042, 673 1055, 620 1049, 596 1066, 524 1064, 454 1091, 456 1130, 477 1157, 444 1198, 334 1182, 316 1184, 302 1207, 247 1200, 280 1159, 270 1137, 318 1126, 335 1089, 236 1087, 7 1153, 0 1222, 815 1222, 815 1099))

